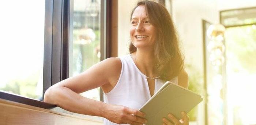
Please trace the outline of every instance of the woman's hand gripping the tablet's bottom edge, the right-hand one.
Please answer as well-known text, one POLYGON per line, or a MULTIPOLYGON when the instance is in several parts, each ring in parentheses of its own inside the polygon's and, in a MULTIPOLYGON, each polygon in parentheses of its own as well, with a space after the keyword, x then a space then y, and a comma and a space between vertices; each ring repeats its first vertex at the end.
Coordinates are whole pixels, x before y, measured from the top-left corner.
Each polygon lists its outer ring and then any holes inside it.
POLYGON ((172 120, 172 122, 170 122, 167 118, 163 118, 163 124, 162 125, 188 125, 189 123, 189 117, 188 114, 185 112, 181 112, 181 115, 183 116, 182 119, 179 121, 176 117, 174 117, 172 114, 168 114, 168 118, 170 120, 172 120))

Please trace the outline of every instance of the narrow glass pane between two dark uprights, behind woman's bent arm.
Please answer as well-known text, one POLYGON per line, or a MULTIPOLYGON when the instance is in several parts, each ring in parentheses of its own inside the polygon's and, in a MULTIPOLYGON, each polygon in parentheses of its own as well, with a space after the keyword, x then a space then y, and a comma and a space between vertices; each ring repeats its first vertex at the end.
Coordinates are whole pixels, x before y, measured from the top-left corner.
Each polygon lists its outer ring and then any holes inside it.
MULTIPOLYGON (((100 61, 100 1, 74 0, 72 74, 78 75, 100 61)), ((100 100, 99 88, 81 93, 100 100)))

